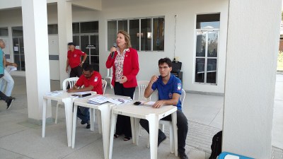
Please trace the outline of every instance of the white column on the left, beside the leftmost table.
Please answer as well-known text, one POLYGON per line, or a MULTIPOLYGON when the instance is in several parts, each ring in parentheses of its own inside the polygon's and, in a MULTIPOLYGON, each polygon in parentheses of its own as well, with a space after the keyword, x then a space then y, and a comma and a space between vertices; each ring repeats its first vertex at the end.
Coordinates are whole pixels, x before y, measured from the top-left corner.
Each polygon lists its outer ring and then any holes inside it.
MULTIPOLYGON (((22 0, 22 13, 28 118, 40 121, 43 95, 50 91, 47 1, 22 0)), ((51 108, 47 117, 51 117, 51 108)))

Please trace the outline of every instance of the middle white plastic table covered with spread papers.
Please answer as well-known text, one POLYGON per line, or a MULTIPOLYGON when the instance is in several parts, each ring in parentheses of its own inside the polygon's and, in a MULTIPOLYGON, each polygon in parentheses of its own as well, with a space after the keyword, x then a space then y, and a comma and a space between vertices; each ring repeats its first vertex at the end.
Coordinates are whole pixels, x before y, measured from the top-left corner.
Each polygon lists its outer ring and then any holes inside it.
MULTIPOLYGON (((93 95, 90 98, 96 97, 98 95, 93 95)), ((122 98, 122 99, 130 99, 129 97, 125 97, 125 96, 121 96, 121 95, 110 95, 110 94, 106 94, 104 95, 105 97, 108 98, 112 98, 112 99, 117 99, 117 98, 122 98)), ((110 114, 111 114, 111 110, 112 110, 112 106, 114 106, 114 104, 110 103, 110 102, 105 102, 101 105, 94 105, 94 104, 89 104, 88 103, 88 99, 89 98, 84 98, 84 99, 77 99, 74 102, 74 114, 73 114, 73 131, 72 131, 72 144, 71 144, 71 148, 74 148, 75 146, 75 140, 76 140, 76 112, 78 109, 78 106, 81 107, 89 107, 90 108, 90 121, 91 121, 91 131, 94 130, 93 127, 93 111, 94 110, 100 110, 100 114, 98 115, 98 126, 100 131, 102 131, 102 135, 103 135, 103 151, 104 151, 104 158, 108 158, 108 154, 109 154, 109 135, 110 135, 110 114), (100 127, 101 126, 101 127, 100 127)), ((98 112, 99 113, 99 112, 98 112)))

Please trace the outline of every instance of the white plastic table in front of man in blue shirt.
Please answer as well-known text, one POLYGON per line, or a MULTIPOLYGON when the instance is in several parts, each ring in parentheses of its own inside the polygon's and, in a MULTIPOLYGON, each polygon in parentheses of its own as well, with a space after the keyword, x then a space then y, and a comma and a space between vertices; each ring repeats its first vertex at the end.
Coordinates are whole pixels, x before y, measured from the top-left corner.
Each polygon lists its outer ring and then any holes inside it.
POLYGON ((150 153, 151 159, 157 158, 157 143, 158 143, 158 123, 163 117, 172 114, 173 123, 173 133, 174 133, 174 148, 175 156, 178 156, 177 151, 177 107, 172 105, 166 105, 160 108, 153 108, 151 106, 141 106, 133 105, 133 102, 126 103, 123 105, 117 105, 112 107, 112 119, 110 128, 110 148, 109 148, 109 158, 112 158, 112 148, 113 148, 113 137, 114 129, 117 122, 117 115, 125 115, 134 118, 134 126, 132 124, 132 139, 133 142, 138 144, 138 130, 139 130, 139 119, 147 119, 149 121, 149 140, 150 140, 150 153), (134 128, 133 128, 134 127, 134 128), (133 131, 134 129, 134 131, 133 131))

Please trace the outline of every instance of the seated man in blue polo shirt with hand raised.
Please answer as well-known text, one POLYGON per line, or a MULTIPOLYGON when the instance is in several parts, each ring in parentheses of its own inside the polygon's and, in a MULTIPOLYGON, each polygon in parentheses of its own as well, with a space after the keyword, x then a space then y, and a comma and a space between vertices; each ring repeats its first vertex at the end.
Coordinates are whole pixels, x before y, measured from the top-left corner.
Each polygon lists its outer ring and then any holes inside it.
MULTIPOLYGON (((182 83, 179 78, 171 74, 172 61, 171 59, 164 58, 158 61, 160 76, 152 76, 147 86, 144 97, 154 93, 154 90, 158 90, 158 101, 153 105, 154 108, 163 107, 164 105, 175 105, 178 107, 177 110, 177 127, 178 127, 178 155, 181 159, 187 159, 185 153, 185 140, 187 138, 187 118, 182 112, 180 95, 182 93, 182 83)), ((171 115, 164 117, 163 120, 171 121, 171 115)), ((140 122, 142 127, 149 132, 149 122, 146 119, 141 119, 140 122)), ((159 129, 158 130, 158 146, 166 139, 166 135, 159 129)))

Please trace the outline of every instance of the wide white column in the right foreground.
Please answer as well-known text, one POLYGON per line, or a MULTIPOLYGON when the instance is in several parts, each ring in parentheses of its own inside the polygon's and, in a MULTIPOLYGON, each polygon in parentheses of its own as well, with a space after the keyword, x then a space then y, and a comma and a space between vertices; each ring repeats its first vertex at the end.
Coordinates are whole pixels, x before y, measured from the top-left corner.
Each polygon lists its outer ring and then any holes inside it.
POLYGON ((270 158, 281 4, 229 1, 222 151, 270 158))

